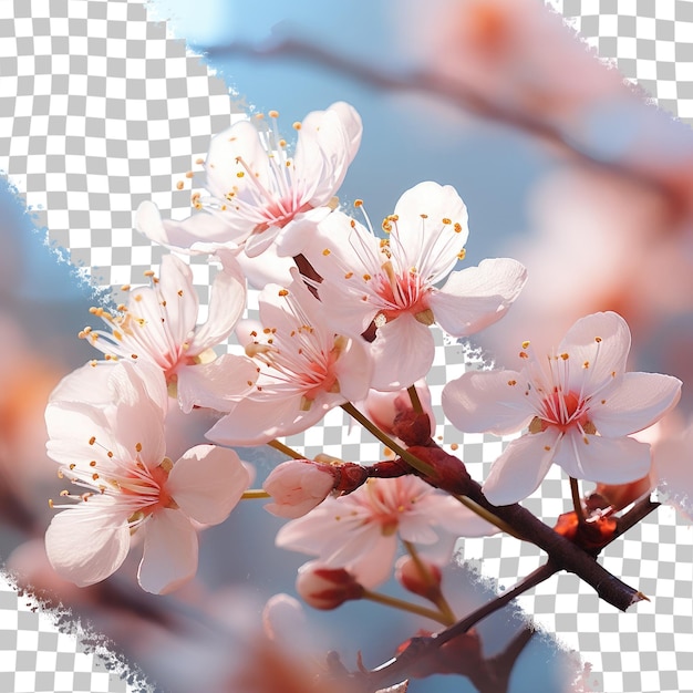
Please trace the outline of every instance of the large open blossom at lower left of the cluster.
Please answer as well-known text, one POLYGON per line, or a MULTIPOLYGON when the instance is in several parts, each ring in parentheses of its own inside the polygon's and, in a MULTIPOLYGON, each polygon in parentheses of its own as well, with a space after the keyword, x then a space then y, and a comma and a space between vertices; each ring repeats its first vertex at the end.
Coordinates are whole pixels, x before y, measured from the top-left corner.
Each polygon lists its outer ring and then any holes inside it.
POLYGON ((84 489, 53 517, 45 549, 55 571, 80 587, 104 580, 125 560, 131 537, 144 536, 138 581, 148 592, 178 588, 197 570, 194 523, 226 519, 250 483, 234 451, 197 445, 166 457, 166 384, 152 365, 86 365, 49 402, 48 454, 84 489), (100 376, 92 379, 94 373, 100 376), (90 393, 91 389, 91 393, 90 393), (82 401, 71 393, 85 394, 82 401), (94 393, 96 392, 96 394, 94 393))

